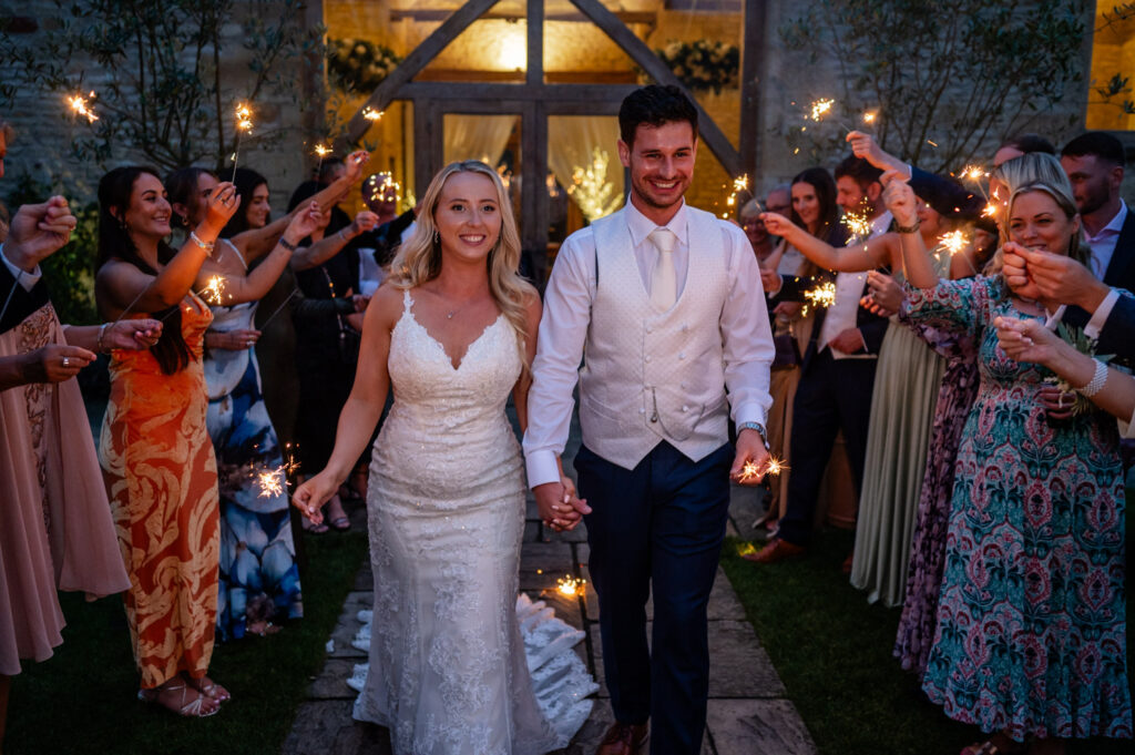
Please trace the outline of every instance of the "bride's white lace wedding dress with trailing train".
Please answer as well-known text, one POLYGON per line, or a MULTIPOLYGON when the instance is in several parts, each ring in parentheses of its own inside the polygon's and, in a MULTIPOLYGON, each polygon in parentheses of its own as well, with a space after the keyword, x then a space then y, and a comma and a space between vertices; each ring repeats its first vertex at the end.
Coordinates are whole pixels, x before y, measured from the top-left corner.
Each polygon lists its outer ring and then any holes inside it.
POLYGON ((406 292, 370 468, 375 606, 354 716, 388 727, 400 755, 564 747, 596 685, 571 649, 582 632, 518 602, 526 488, 504 413, 516 337, 501 316, 455 368, 412 304, 406 292))

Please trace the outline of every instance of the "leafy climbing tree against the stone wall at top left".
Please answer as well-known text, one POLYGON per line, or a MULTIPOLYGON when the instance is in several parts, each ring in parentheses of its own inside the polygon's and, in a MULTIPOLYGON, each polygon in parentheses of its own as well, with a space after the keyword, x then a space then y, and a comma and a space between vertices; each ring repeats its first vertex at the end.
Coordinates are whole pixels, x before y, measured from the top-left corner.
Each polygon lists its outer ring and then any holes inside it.
MULTIPOLYGON (((165 169, 201 160, 219 169, 233 151, 234 103, 254 108, 264 92, 300 102, 287 64, 321 57, 322 30, 305 28, 302 0, 56 0, 56 14, 6 44, 0 61, 44 97, 95 92, 100 117, 77 120, 72 151, 99 163, 141 153, 165 169), (239 54, 224 48, 233 24, 243 33, 239 54), (233 76, 234 59, 246 60, 249 74, 233 76), (87 79, 87 70, 98 76, 87 79)), ((0 90, 3 100, 12 94, 0 90)))

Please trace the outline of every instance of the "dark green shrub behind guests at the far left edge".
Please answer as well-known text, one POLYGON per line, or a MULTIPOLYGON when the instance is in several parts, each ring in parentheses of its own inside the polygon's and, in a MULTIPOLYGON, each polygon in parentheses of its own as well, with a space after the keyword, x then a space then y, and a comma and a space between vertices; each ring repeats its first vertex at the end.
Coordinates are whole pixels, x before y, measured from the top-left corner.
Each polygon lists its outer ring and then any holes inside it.
MULTIPOLYGON (((20 204, 45 201, 52 194, 62 193, 35 181, 27 173, 14 182, 7 204, 15 213, 20 204)), ((51 294, 51 303, 61 322, 69 325, 93 325, 99 321, 94 307, 94 260, 99 242, 98 202, 70 202, 72 212, 78 226, 72 232, 70 241, 58 252, 43 261, 43 279, 51 294)))

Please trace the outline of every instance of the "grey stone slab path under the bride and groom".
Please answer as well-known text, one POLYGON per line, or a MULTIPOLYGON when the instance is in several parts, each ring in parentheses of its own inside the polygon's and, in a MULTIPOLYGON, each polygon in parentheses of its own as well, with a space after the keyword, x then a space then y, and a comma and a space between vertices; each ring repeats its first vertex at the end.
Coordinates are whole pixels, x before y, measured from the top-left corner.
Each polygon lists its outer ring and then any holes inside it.
MULTIPOLYGON (((578 445, 579 428, 573 426, 565 454, 569 459, 578 445)), ((751 490, 735 488, 730 512, 731 530, 747 534, 758 509, 751 490)), ((363 512, 359 514, 364 515, 363 512)), ((364 526, 362 521, 355 525, 364 526)), ((554 606, 557 615, 587 632, 577 652, 602 685, 603 651, 595 593, 590 584, 585 594, 575 597, 564 597, 556 590, 556 580, 565 574, 588 579, 587 562, 583 527, 562 535, 548 532, 543 529, 536 505, 529 500, 520 587, 533 599, 554 606)), ((331 636, 335 649, 328 654, 322 672, 308 689, 308 699, 300 706, 284 744, 285 755, 382 755, 390 752, 385 729, 351 719, 355 693, 345 683, 354 664, 365 661, 365 654, 353 648, 351 639, 359 628, 355 614, 361 609, 369 609, 372 597, 370 565, 367 564, 355 578, 354 590, 347 596, 331 636)), ((649 616, 650 606, 647 609, 649 616)), ((721 570, 709 598, 709 653, 708 731, 703 755, 810 755, 816 752, 721 570)), ((563 755, 591 755, 611 722, 611 705, 603 685, 590 720, 562 750, 563 755)))

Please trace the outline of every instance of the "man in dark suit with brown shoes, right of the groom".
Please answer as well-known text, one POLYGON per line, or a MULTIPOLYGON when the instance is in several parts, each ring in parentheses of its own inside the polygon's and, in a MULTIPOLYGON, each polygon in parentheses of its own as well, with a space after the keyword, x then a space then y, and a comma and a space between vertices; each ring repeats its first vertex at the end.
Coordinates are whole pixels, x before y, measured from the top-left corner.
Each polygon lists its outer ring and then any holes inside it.
MULTIPOLYGON (((886 233, 892 220, 883 208, 881 175, 880 169, 855 157, 835 169, 838 203, 846 212, 865 213, 871 220, 872 237, 886 233)), ((866 278, 866 272, 839 274, 835 302, 816 312, 792 404, 788 507, 777 536, 749 556, 757 563, 799 555, 808 546, 819 484, 840 430, 857 494, 863 485, 875 366, 889 325, 885 318, 859 307, 866 278)), ((812 285, 812 280, 787 277, 776 296, 780 301, 802 301, 804 290, 812 285)))

